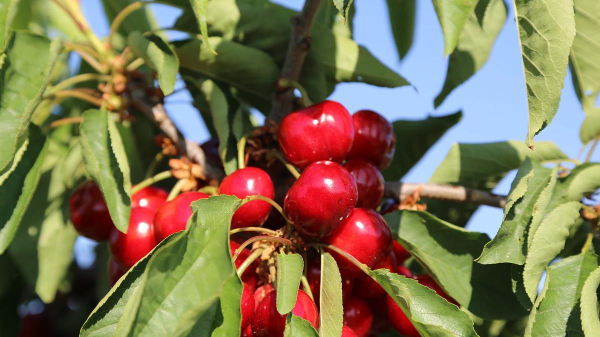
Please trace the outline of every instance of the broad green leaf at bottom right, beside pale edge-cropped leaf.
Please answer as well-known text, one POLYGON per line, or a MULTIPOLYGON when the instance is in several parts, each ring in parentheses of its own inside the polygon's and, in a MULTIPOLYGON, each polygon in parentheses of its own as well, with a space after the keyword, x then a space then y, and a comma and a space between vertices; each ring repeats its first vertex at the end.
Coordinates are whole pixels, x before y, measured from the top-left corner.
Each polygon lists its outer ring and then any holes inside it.
POLYGON ((545 293, 529 316, 527 336, 565 334, 569 316, 578 307, 583 282, 598 263, 598 255, 584 252, 548 267, 545 293))

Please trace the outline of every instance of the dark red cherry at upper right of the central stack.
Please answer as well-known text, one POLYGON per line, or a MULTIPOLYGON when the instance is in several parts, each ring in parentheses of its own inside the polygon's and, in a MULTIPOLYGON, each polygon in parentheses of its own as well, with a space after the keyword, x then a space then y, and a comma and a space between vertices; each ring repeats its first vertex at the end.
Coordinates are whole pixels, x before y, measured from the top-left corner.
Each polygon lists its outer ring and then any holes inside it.
POLYGON ((371 110, 360 110, 352 115, 354 143, 349 158, 370 161, 380 170, 394 158, 396 136, 394 128, 382 115, 371 110))

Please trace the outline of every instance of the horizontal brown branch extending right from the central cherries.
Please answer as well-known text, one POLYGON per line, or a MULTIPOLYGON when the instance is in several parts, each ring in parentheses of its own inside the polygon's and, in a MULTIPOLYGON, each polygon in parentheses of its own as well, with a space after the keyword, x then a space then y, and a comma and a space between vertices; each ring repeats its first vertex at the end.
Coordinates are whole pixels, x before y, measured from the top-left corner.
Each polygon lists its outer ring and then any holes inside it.
POLYGON ((451 200, 500 208, 503 208, 506 204, 506 197, 503 195, 496 195, 491 192, 466 188, 464 186, 443 185, 439 183, 386 182, 384 195, 401 200, 415 192, 419 187, 421 187, 420 194, 423 198, 451 200))

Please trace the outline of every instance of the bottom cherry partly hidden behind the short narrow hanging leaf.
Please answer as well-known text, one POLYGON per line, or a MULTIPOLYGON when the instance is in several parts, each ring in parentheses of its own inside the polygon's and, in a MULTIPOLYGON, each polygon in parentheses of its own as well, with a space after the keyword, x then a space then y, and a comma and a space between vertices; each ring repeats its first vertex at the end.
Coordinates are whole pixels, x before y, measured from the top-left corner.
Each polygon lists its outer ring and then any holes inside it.
MULTIPOLYGON (((277 290, 268 293, 260 301, 254 311, 252 318, 252 332, 254 337, 281 337, 286 326, 286 316, 277 312, 277 290)), ((296 305, 292 309, 292 314, 307 320, 314 329, 319 330, 319 312, 313 300, 307 293, 298 290, 296 305)))

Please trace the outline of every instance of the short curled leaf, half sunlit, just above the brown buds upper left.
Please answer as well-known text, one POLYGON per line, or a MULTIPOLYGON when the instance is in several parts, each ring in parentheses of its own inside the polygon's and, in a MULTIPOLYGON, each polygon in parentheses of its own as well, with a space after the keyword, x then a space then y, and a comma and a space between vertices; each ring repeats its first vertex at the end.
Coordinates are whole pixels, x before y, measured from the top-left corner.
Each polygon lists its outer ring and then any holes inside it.
POLYGON ((179 60, 173 47, 158 35, 137 31, 129 34, 127 44, 137 57, 143 58, 157 72, 164 95, 172 94, 179 71, 179 60))

